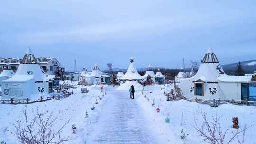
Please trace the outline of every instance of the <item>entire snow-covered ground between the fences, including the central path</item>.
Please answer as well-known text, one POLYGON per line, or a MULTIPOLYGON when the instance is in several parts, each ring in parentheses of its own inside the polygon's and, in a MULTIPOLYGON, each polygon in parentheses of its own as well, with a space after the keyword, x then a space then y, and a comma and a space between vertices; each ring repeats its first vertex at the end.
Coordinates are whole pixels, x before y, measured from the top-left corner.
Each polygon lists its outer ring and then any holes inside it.
MULTIPOLYGON (((29 105, 0 104, 0 141, 19 144, 11 134, 14 131, 12 123, 23 119, 22 109, 27 107, 29 118, 36 114, 37 108, 40 112, 53 111, 54 116, 58 116, 55 129, 70 119, 62 133, 62 136, 69 137, 65 144, 184 144, 180 138, 181 129, 189 134, 185 144, 198 144, 203 139, 192 125, 194 117, 199 126, 202 125, 201 112, 206 112, 209 120, 216 114, 224 114, 220 123, 223 129, 229 128, 228 136, 234 130, 231 127, 232 117, 238 116, 240 127, 252 125, 245 132, 244 144, 256 144, 256 107, 224 104, 213 108, 185 100, 166 101, 161 88, 163 86, 160 85, 146 86, 146 98, 140 91, 136 91, 135 99, 130 99, 128 90, 118 91, 117 87, 104 86, 107 95, 102 100, 98 99, 99 104, 95 104, 95 110, 91 110, 91 107, 96 98, 102 95, 101 86, 78 86, 73 89, 73 95, 60 101, 50 100, 29 105), (90 92, 82 94, 81 87, 88 88, 90 92), (161 109, 160 113, 156 112, 157 106, 161 109), (88 118, 84 117, 86 111, 89 113, 88 118), (167 114, 170 123, 165 123, 167 114), (76 134, 71 132, 72 124, 77 127, 76 134)), ((169 86, 168 91, 171 88, 169 86)))

